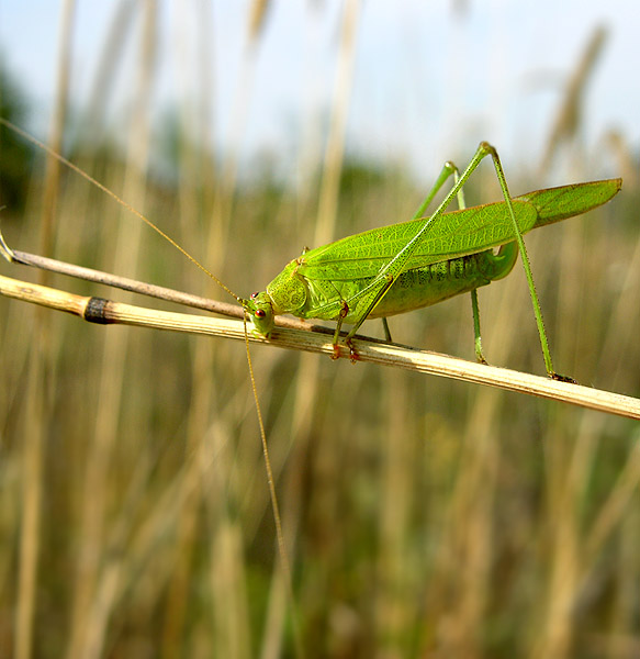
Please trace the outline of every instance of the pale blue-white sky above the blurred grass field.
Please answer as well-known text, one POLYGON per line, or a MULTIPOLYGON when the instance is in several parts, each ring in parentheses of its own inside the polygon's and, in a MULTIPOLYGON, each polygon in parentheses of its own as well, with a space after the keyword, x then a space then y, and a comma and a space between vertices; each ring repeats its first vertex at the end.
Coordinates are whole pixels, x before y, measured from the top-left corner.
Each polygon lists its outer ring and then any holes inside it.
MULTIPOLYGON (((119 37, 123 55, 109 94, 115 125, 131 114, 142 33, 144 2, 125 1, 133 8, 133 20, 119 37)), ((322 158, 345 4, 272 0, 247 58, 252 2, 158 0, 155 111, 161 116, 171 108, 188 108, 187 116, 193 116, 193 108, 206 103, 211 139, 221 153, 237 144, 243 168, 250 169, 265 156, 283 176, 295 177, 305 157, 322 158), (203 79, 210 80, 204 92, 203 79)), ((586 161, 594 169, 605 166, 602 141, 611 130, 637 149, 637 0, 358 4, 346 124, 349 153, 405 165, 427 180, 446 159, 468 159, 478 143, 487 139, 497 146, 505 166, 534 169, 563 86, 597 26, 608 36, 583 105, 586 161)), ((31 127, 41 136, 55 98, 61 5, 0 0, 0 56, 27 91, 34 105, 31 127)), ((78 112, 94 93, 119 7, 120 0, 76 3, 71 104, 78 112)))

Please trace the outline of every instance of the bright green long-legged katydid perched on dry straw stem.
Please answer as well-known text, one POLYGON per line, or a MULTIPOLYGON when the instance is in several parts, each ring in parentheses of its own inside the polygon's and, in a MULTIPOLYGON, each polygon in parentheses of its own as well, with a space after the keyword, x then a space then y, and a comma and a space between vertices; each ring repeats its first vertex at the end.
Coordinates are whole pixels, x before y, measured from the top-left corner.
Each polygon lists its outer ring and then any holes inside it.
POLYGON ((620 190, 621 183, 621 179, 575 183, 512 199, 498 155, 493 146, 483 142, 461 176, 451 164, 445 165, 409 222, 374 228, 305 250, 290 261, 263 292, 240 302, 255 332, 266 337, 273 328, 276 314, 336 321, 334 358, 339 357, 343 323, 351 324, 345 343, 355 358, 351 339, 367 319, 381 317, 385 323, 388 316, 471 292, 475 353, 478 359, 484 361, 475 291, 506 277, 519 253, 547 372, 552 378, 565 379, 553 370, 523 235, 606 203, 620 190), (446 213, 456 197, 463 206, 462 187, 485 156, 493 160, 504 201, 446 213), (451 175, 456 176, 454 186, 435 213, 423 217, 427 205, 451 175), (494 247, 499 247, 497 254, 494 254, 494 247))

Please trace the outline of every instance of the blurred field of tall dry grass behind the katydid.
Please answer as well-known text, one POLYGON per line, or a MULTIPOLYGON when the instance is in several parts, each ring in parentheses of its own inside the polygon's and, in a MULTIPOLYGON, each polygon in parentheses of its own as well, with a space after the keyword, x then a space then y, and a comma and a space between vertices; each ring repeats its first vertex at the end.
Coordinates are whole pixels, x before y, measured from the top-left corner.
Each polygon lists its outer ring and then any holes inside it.
MULTIPOLYGON (((259 57, 251 46, 268 29, 267 4, 248 8, 236 135, 246 127, 243 103, 259 57)), ((115 36, 82 114, 85 130, 68 134, 71 56, 61 49, 47 141, 66 145, 77 164, 231 288, 247 294, 263 287, 305 244, 411 217, 426 191, 408 171, 345 154, 359 2, 345 3, 337 30, 326 143, 303 145, 310 166, 295 190, 268 165, 250 183, 239 181, 237 152, 221 161, 202 148, 207 135, 186 130, 190 108, 179 108, 161 132, 154 127, 157 8, 142 5, 131 62, 121 59, 116 36, 133 20, 132 7, 122 3, 114 20, 115 36), (109 98, 111 67, 119 66, 136 67, 138 82, 127 127, 115 135, 106 130, 101 99, 109 98), (93 141, 97 135, 103 137, 93 141), (164 170, 151 157, 158 153, 164 170)), ((72 31, 72 3, 66 10, 63 43, 72 31)), ((575 109, 581 86, 568 89, 564 110, 575 109)), ((203 79, 204 105, 210 94, 203 79)), ((564 141, 579 161, 572 122, 580 113, 558 116, 546 157, 553 161, 564 141)), ((2 139, 5 145, 10 137, 2 139)), ((587 171, 574 165, 566 181, 622 175, 620 198, 527 243, 557 368, 638 396, 637 160, 624 136, 602 136, 600 144, 613 170, 594 171, 588 160, 587 171)), ((463 165, 474 147, 452 145, 451 155, 461 155, 463 165)), ((222 297, 86 181, 42 154, 34 160, 30 171, 21 165, 29 179, 24 208, 2 213, 10 245, 222 297)), ((490 168, 483 169, 470 203, 499 197, 490 168)), ((530 169, 507 171, 514 193, 543 187, 527 176, 530 169)), ((50 281, 126 299, 82 282, 50 281)), ((519 268, 482 289, 480 301, 489 359, 541 372, 519 268)), ((402 343, 473 357, 467 298, 398 316, 391 327, 402 343)), ((256 348, 292 603, 244 346, 91 326, 3 299, 0 336, 1 657, 640 654, 638 424, 459 382, 256 348)))

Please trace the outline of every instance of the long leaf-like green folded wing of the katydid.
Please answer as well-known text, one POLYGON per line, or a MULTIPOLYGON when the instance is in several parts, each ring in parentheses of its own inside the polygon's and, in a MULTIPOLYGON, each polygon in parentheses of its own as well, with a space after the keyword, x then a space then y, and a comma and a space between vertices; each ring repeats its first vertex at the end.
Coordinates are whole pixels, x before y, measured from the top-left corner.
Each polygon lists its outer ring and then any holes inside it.
MULTIPOLYGON (((523 234, 580 215, 607 202, 620 179, 576 183, 529 192, 513 199, 523 234)), ((303 255, 297 272, 310 279, 346 281, 374 277, 424 226, 425 219, 382 226, 348 236, 303 255)), ((467 256, 515 238, 506 202, 445 213, 434 221, 404 270, 467 256)))

